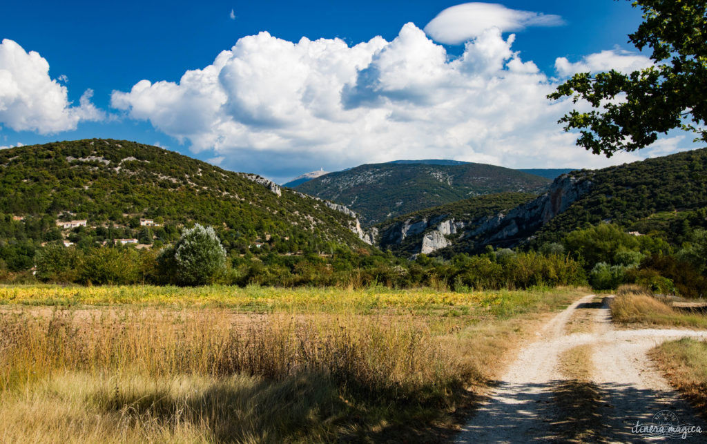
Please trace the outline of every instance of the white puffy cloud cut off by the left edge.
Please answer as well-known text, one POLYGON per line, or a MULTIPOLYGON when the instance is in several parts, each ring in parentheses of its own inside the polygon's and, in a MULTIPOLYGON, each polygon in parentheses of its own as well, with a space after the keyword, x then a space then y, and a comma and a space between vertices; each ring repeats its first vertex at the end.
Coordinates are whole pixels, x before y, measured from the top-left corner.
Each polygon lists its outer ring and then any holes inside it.
POLYGON ((0 124, 15 131, 41 134, 76 129, 82 120, 103 119, 86 90, 71 106, 66 86, 49 77, 49 63, 34 51, 25 52, 13 40, 0 44, 0 124))

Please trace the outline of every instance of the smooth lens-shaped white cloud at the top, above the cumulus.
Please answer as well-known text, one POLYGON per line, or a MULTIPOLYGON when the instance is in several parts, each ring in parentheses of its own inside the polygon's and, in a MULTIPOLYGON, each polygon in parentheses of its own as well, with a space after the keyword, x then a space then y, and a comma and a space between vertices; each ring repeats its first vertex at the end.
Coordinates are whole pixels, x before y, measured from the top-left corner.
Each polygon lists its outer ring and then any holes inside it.
POLYGON ((489 28, 518 31, 528 26, 558 26, 560 16, 509 9, 491 3, 465 3, 446 8, 425 26, 434 40, 447 45, 459 45, 483 34, 489 28))

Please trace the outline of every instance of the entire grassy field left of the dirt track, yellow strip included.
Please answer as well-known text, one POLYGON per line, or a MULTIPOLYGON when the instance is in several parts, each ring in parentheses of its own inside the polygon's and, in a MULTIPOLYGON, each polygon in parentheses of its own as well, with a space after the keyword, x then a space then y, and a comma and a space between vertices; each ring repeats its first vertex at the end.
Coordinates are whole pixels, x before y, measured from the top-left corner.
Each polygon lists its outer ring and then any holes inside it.
POLYGON ((569 289, 0 288, 0 442, 433 441, 569 289))

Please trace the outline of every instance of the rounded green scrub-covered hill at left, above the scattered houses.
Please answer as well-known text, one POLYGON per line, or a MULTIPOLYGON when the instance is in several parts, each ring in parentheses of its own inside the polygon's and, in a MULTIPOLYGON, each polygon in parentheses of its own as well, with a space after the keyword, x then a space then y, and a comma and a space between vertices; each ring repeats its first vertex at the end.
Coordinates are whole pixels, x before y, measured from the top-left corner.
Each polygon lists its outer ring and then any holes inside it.
POLYGON ((0 151, 0 240, 59 240, 67 234, 57 220, 81 219, 87 228, 70 237, 85 245, 167 243, 198 222, 243 252, 260 243, 277 252, 364 246, 350 212, 156 146, 90 139, 0 151), (158 226, 141 227, 141 218, 158 226))

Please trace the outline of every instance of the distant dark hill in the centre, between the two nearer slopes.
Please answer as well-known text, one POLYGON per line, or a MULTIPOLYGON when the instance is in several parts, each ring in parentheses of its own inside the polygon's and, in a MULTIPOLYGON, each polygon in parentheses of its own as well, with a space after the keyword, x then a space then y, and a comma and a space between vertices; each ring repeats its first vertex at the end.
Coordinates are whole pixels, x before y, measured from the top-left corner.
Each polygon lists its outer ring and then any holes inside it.
POLYGON ((378 163, 329 173, 298 185, 301 192, 337 201, 373 226, 402 214, 498 192, 545 192, 551 180, 481 163, 378 163))

